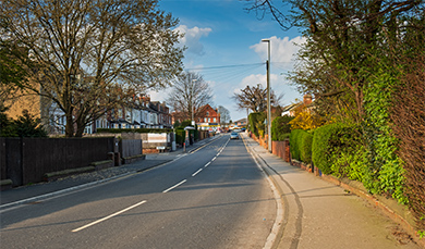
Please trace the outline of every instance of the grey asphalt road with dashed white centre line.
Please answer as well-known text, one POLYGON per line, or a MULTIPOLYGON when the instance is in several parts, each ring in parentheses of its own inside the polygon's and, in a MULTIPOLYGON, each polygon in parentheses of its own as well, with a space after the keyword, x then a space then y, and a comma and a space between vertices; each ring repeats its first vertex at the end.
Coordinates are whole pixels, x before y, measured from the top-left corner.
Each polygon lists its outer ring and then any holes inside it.
POLYGON ((276 201, 228 135, 166 165, 1 213, 2 248, 263 248, 276 201))

